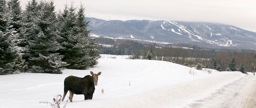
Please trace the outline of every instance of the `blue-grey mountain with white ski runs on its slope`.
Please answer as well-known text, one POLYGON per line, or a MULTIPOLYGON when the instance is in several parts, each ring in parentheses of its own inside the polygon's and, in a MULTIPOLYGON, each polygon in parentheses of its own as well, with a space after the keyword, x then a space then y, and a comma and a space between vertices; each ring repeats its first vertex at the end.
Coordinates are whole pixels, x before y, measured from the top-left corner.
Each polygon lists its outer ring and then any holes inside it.
POLYGON ((102 37, 256 50, 256 33, 232 25, 184 21, 105 21, 89 17, 85 20, 90 21, 87 29, 91 29, 91 34, 102 37))

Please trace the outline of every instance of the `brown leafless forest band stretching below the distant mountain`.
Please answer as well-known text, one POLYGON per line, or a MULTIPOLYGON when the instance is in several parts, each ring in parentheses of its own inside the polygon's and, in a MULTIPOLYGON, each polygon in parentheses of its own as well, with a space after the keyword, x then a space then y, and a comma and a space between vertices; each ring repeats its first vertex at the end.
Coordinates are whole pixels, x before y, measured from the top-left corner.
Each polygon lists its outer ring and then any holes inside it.
POLYGON ((244 49, 209 49, 192 44, 156 44, 141 43, 132 40, 97 38, 98 50, 101 54, 146 56, 149 50, 156 60, 175 62, 179 64, 197 65, 202 63, 207 68, 214 60, 220 65, 220 71, 226 71, 228 62, 234 57, 237 67, 243 63, 248 72, 256 71, 256 51, 244 49), (190 49, 187 49, 190 48, 190 49))

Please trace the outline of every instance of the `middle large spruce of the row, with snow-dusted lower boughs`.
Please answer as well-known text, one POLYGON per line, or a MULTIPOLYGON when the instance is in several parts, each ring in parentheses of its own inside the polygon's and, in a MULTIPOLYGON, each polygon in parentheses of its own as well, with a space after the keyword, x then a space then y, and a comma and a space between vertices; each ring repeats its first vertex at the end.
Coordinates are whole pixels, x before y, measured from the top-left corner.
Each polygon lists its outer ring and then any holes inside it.
POLYGON ((62 47, 57 42, 59 36, 54 8, 53 1, 40 1, 38 14, 31 16, 33 28, 29 28, 32 32, 28 40, 28 72, 61 74, 66 66, 66 62, 61 60, 62 56, 56 53, 62 47))

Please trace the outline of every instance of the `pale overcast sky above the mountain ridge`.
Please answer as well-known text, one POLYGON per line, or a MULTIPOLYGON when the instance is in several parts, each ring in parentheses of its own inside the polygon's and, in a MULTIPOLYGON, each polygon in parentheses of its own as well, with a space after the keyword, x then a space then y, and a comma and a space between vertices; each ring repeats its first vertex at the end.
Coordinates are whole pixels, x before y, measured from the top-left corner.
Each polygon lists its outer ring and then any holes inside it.
MULTIPOLYGON (((20 0, 22 9, 28 0, 20 0)), ((86 17, 103 20, 176 20, 215 22, 256 32, 256 0, 73 0, 86 17), (110 16, 110 17, 109 17, 110 16)), ((66 0, 54 0, 56 10, 66 0)), ((67 0, 67 4, 70 4, 67 0)))

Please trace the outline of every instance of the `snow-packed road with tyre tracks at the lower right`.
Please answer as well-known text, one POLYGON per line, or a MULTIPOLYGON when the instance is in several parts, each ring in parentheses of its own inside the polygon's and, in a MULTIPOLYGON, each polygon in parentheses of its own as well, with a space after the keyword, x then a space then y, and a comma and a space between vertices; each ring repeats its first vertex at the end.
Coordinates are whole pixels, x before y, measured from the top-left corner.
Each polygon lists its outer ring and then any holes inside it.
POLYGON ((256 76, 244 76, 196 100, 189 108, 256 108, 256 76))

